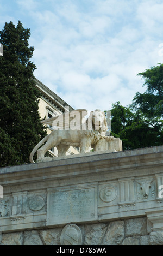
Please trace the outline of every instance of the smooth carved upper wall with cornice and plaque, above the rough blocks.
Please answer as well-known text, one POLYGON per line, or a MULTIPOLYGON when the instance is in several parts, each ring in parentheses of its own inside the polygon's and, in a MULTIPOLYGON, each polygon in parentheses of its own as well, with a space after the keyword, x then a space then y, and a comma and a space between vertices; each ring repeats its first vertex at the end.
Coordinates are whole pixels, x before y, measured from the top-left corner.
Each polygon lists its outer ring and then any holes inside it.
MULTIPOLYGON (((163 184, 162 164, 163 146, 159 146, 112 153, 90 152, 58 157, 51 162, 1 168, 4 186, 1 231, 104 223, 140 216, 147 216, 153 230, 160 231, 163 213, 158 184, 163 184), (141 196, 140 183, 145 181, 152 181, 148 198, 141 196)), ((126 229, 127 237, 147 235, 146 224, 135 222, 126 221, 130 225, 126 229)))

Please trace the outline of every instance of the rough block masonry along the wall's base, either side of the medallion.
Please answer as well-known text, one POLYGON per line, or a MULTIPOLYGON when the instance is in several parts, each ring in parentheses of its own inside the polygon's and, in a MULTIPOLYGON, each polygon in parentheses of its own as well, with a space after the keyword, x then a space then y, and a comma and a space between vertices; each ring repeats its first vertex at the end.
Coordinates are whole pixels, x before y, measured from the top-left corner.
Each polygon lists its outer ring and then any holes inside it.
MULTIPOLYGON (((85 224, 83 245, 163 245, 163 232, 147 232, 147 218, 85 224)), ((27 230, 0 235, 0 245, 61 245, 62 228, 27 230)))

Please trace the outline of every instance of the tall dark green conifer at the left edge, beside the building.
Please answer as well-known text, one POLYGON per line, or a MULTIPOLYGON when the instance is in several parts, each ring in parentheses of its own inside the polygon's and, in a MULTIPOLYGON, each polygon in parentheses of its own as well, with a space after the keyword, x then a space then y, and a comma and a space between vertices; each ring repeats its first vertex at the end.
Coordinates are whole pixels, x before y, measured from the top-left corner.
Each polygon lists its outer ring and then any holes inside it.
POLYGON ((0 57, 0 166, 29 163, 33 147, 46 135, 40 123, 40 92, 35 87, 30 62, 30 29, 18 21, 5 23, 0 31, 3 57, 0 57))

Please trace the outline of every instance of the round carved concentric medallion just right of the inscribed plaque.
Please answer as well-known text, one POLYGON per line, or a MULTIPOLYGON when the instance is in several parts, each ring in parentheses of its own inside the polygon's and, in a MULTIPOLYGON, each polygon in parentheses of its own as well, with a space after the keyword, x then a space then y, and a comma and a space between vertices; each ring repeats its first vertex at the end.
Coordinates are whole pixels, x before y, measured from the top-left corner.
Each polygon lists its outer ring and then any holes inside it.
POLYGON ((112 187, 112 186, 104 187, 99 192, 99 198, 106 203, 114 200, 116 196, 117 196, 117 190, 115 187, 112 187))

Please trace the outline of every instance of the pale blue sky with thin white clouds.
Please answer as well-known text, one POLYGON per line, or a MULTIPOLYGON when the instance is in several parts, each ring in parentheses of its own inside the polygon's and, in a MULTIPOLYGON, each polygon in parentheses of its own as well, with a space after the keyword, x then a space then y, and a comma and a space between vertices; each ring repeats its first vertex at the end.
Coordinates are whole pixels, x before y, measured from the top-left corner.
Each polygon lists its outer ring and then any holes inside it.
POLYGON ((30 28, 34 75, 74 109, 110 110, 163 63, 162 0, 0 0, 0 30, 30 28))

